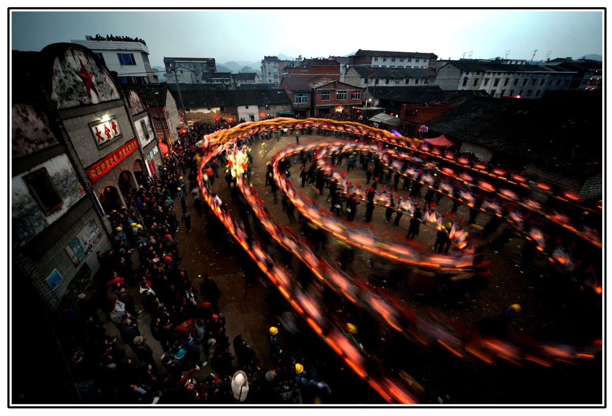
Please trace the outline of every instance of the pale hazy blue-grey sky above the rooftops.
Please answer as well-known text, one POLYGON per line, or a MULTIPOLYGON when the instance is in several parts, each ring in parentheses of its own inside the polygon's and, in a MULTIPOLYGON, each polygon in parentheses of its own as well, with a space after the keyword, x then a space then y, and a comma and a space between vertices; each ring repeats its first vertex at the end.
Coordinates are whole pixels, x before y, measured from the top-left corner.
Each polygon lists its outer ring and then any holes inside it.
MULTIPOLYGON (((600 10, 135 10, 18 11, 10 14, 13 50, 39 51, 85 35, 144 39, 152 66, 164 56, 261 61, 358 49, 428 52, 438 59, 536 60, 603 54, 600 10)), ((255 68, 258 69, 258 68, 255 68)))

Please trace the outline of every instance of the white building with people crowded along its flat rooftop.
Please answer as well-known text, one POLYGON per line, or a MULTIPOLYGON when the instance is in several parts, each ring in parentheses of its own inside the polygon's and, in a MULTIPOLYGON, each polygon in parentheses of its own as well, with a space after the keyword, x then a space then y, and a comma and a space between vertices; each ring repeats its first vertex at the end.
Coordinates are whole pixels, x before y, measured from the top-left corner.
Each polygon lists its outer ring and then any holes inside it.
MULTIPOLYGON (((120 39, 120 38, 116 38, 120 39)), ((158 83, 157 71, 149 62, 149 47, 142 39, 106 40, 87 36, 86 40, 70 40, 93 51, 108 70, 117 72, 124 84, 158 83)))

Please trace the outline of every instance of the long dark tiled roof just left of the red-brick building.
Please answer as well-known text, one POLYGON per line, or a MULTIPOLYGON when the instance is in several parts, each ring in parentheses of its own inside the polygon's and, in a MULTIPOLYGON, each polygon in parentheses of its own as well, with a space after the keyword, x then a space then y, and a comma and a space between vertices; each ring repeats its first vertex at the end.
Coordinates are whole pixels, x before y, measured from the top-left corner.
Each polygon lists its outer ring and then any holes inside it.
MULTIPOLYGON (((179 102, 178 94, 172 91, 174 99, 179 102)), ((287 93, 282 89, 206 89, 181 91, 187 108, 214 106, 291 104, 287 93)))

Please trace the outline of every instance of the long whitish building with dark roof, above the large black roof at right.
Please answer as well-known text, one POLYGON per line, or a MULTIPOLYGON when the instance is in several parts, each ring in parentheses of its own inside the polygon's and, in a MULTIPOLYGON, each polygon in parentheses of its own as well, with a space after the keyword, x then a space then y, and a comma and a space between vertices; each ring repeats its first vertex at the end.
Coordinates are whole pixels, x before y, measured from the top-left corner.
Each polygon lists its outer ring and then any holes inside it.
POLYGON ((576 71, 545 65, 452 61, 438 70, 431 84, 444 90, 484 90, 491 97, 542 97, 544 91, 567 90, 576 71))

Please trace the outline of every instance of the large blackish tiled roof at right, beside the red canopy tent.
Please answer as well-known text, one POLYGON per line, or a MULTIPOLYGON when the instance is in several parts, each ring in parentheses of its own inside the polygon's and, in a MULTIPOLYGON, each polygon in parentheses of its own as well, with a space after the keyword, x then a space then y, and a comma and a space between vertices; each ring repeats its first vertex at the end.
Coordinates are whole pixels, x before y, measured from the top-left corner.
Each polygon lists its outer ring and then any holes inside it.
POLYGON ((601 162, 601 114, 601 95, 578 91, 547 91, 537 100, 474 96, 433 119, 428 127, 510 157, 554 167, 601 162))

